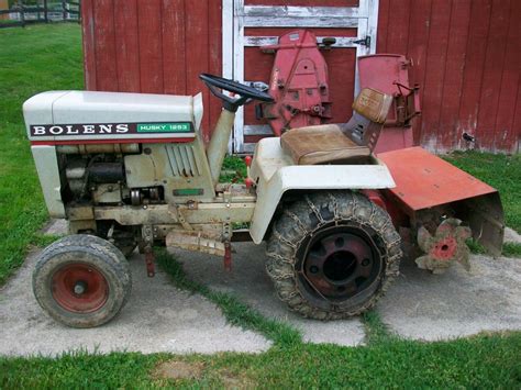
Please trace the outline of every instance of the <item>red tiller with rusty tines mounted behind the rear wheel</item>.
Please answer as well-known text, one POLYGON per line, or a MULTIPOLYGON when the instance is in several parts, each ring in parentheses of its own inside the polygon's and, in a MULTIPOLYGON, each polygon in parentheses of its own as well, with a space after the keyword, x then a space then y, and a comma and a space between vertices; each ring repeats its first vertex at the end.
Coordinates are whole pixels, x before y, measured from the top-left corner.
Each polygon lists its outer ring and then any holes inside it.
POLYGON ((441 274, 454 261, 468 268, 465 243, 470 236, 494 256, 501 254, 505 220, 496 189, 421 147, 380 153, 378 158, 397 185, 383 192, 392 209, 389 214, 399 226, 408 222, 422 250, 420 268, 441 274))

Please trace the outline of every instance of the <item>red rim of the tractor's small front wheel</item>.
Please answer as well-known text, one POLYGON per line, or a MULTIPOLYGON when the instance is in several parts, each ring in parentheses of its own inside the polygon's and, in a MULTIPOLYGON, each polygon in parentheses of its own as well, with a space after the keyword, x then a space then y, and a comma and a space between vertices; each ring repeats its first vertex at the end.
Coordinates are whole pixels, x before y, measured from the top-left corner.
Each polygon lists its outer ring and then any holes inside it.
POLYGON ((55 301, 74 313, 91 313, 102 308, 109 298, 109 283, 96 267, 75 263, 53 275, 55 301))

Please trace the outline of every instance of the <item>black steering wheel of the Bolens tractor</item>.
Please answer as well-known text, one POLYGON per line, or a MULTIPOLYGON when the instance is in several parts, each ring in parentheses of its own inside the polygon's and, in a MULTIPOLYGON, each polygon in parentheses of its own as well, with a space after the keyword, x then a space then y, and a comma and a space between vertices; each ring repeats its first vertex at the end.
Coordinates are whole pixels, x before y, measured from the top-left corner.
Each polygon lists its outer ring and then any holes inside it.
POLYGON ((265 102, 273 102, 274 98, 271 98, 268 93, 259 91, 253 87, 245 86, 244 83, 233 81, 223 77, 209 75, 209 74, 201 74, 199 78, 204 81, 204 83, 210 88, 210 91, 221 99, 224 103, 224 109, 231 112, 237 111, 241 105, 246 104, 251 100, 259 100, 265 102), (229 97, 222 91, 225 90, 229 92, 233 92, 239 94, 239 98, 229 97))

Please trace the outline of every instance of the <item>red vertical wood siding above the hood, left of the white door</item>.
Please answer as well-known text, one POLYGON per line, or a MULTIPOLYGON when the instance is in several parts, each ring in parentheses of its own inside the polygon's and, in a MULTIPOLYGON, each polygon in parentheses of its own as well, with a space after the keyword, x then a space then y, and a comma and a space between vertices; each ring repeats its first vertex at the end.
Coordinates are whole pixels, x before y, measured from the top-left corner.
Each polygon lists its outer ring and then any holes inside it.
POLYGON ((220 75, 221 1, 84 0, 85 79, 89 90, 203 92, 204 136, 220 103, 199 80, 220 75))

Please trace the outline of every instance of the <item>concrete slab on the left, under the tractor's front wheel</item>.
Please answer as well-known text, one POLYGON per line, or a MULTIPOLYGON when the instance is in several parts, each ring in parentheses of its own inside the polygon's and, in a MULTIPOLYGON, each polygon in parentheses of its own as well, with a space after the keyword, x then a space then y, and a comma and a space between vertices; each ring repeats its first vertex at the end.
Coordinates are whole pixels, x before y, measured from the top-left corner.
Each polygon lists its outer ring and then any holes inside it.
POLYGON ((221 311, 198 294, 177 290, 158 272, 145 274, 143 259, 131 259, 133 290, 129 303, 109 324, 90 330, 65 327, 40 309, 31 288, 36 253, 0 290, 0 355, 57 355, 85 348, 100 353, 259 353, 270 343, 226 324, 221 311))

